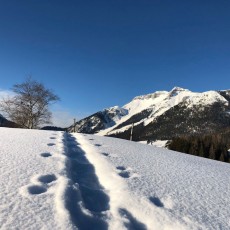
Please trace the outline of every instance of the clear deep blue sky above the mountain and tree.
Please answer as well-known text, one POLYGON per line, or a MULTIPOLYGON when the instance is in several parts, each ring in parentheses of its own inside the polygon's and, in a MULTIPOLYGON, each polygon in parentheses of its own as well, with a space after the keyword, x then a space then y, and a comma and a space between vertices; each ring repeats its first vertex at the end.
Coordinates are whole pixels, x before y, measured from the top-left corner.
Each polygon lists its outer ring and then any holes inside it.
POLYGON ((0 89, 28 75, 84 117, 174 86, 230 88, 229 0, 1 0, 0 89))

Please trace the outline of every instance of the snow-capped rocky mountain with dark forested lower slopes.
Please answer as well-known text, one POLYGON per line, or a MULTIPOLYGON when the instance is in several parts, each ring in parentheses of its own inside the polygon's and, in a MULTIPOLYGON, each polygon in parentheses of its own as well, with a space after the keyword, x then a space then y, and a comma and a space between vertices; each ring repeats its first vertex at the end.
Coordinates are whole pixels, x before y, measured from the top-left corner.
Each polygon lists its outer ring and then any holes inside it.
POLYGON ((229 102, 230 90, 196 93, 175 87, 95 113, 77 122, 76 131, 129 139, 134 124, 135 141, 207 133, 230 124, 229 102))

